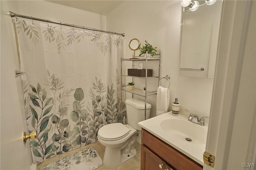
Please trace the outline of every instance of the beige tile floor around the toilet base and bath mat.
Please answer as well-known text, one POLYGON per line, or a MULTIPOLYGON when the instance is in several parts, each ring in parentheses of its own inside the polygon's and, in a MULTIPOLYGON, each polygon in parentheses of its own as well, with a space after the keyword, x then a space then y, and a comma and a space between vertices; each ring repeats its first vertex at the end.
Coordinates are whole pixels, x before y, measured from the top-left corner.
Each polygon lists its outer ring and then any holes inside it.
MULTIPOLYGON (((47 164, 55 162, 56 160, 59 160, 61 158, 64 158, 64 157, 69 156, 71 154, 74 154, 76 152, 79 152, 80 150, 87 149, 89 147, 94 147, 97 150, 100 157, 102 158, 102 160, 103 160, 105 147, 103 145, 101 145, 99 142, 96 142, 96 143, 92 143, 90 145, 86 145, 84 147, 81 147, 81 148, 78 148, 78 149, 75 149, 75 150, 71 150, 69 152, 65 152, 64 154, 54 156, 50 159, 47 159, 44 162, 42 162, 41 164, 38 164, 36 166, 36 170, 39 170, 43 166, 46 166, 47 164)), ((133 159, 129 160, 128 162, 126 162, 126 163, 124 163, 120 166, 117 166, 115 168, 108 168, 108 167, 106 167, 102 164, 96 170, 140 170, 140 144, 136 142, 134 144, 134 147, 137 150, 137 155, 135 156, 135 158, 133 158, 133 159)))

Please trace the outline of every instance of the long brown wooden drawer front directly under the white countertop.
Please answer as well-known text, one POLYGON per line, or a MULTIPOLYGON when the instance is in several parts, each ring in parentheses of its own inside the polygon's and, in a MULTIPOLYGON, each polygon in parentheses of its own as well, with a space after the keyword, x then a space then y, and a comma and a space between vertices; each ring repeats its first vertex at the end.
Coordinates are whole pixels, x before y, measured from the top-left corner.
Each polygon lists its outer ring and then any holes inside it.
POLYGON ((203 166, 142 129, 142 145, 177 170, 202 170, 203 166))

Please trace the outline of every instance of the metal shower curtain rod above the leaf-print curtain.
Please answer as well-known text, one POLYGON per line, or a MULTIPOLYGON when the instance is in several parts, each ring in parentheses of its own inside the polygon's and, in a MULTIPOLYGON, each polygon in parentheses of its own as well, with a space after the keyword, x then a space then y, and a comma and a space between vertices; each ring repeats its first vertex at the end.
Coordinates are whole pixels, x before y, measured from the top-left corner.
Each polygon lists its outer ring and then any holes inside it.
POLYGON ((9 14, 10 14, 11 17, 20 17, 20 18, 26 18, 26 19, 30 19, 30 20, 43 21, 43 22, 47 22, 47 23, 55 23, 55 24, 59 24, 59 25, 66 25, 66 26, 70 26, 70 27, 89 29, 89 30, 92 30, 92 31, 100 31, 100 32, 104 32, 104 33, 112 33, 112 34, 116 34, 116 35, 122 35, 124 37, 124 33, 114 33, 114 32, 110 32, 110 31, 104 31, 104 30, 100 30, 100 29, 82 27, 82 26, 72 25, 72 24, 68 24, 68 23, 44 20, 44 19, 40 19, 40 18, 34 18, 34 17, 29 17, 29 16, 23 16, 23 15, 20 15, 20 14, 15 14, 13 12, 9 12, 9 14))

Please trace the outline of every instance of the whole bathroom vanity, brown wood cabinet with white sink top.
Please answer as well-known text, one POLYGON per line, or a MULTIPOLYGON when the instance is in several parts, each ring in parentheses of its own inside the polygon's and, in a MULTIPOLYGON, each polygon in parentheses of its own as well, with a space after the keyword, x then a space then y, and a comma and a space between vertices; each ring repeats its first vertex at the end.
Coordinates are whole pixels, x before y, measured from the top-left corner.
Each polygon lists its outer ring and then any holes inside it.
POLYGON ((207 126, 170 112, 139 122, 141 170, 202 170, 207 126), (191 141, 185 139, 191 138, 191 141))

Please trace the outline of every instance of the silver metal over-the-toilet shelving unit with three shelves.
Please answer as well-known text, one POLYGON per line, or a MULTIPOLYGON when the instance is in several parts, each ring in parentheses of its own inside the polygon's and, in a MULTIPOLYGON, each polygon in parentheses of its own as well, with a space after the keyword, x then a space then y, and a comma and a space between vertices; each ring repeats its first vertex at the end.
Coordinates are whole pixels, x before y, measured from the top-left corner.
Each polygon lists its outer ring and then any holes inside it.
MULTIPOLYGON (((135 56, 135 58, 138 57, 138 56, 135 56)), ((145 98, 145 109, 144 109, 144 113, 145 113, 145 119, 146 119, 146 104, 147 104, 147 96, 151 96, 151 95, 154 95, 154 94, 157 94, 157 90, 155 91, 147 91, 147 80, 148 78, 158 78, 158 82, 160 80, 160 63, 161 63, 161 50, 159 50, 159 54, 156 54, 154 55, 154 57, 146 57, 146 58, 140 58, 140 59, 122 59, 122 56, 121 56, 121 59, 120 59, 120 64, 121 64, 121 92, 122 91, 125 91, 125 92, 129 92, 129 93, 132 93, 132 98, 134 98, 134 94, 135 95, 138 95, 138 96, 142 96, 145 98), (125 75, 125 74, 122 74, 122 62, 124 61, 129 61, 129 62, 132 62, 132 68, 134 68, 134 62, 137 62, 137 61, 146 61, 146 76, 145 77, 137 77, 137 76, 128 76, 128 75, 125 75), (148 77, 148 62, 150 61, 159 61, 158 62, 158 76, 150 76, 148 77), (143 93, 143 90, 140 90, 140 89, 136 89, 134 88, 134 90, 128 90, 126 89, 126 87, 128 86, 122 86, 122 76, 126 76, 126 77, 132 77, 132 82, 134 82, 134 79, 135 78, 142 78, 142 79, 145 79, 145 88, 146 88, 146 92, 143 93)), ((122 94, 121 94, 121 102, 122 102, 122 94)), ((122 113, 122 107, 121 107, 121 113, 122 113)), ((121 115, 121 121, 123 121, 123 113, 121 115)), ((122 122, 124 123, 124 122, 122 122)))

